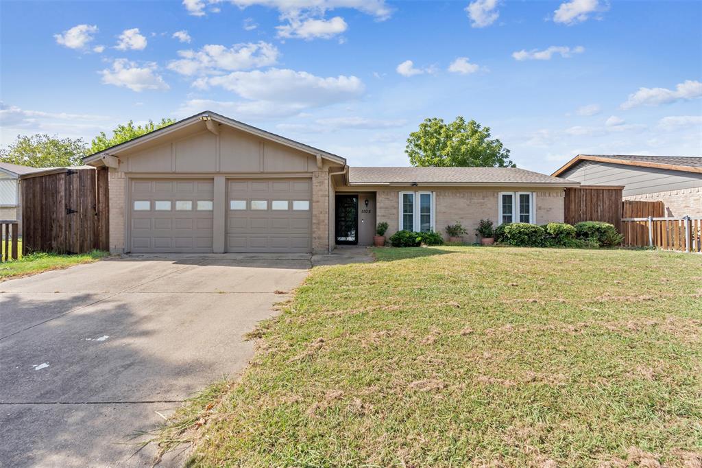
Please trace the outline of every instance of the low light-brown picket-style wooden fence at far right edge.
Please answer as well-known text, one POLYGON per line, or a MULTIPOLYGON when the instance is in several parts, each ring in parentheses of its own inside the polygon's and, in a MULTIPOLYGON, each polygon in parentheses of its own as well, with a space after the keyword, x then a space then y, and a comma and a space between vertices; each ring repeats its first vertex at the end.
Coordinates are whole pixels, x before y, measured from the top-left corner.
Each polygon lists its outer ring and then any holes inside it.
POLYGON ((622 219, 624 245, 702 252, 702 217, 622 219))

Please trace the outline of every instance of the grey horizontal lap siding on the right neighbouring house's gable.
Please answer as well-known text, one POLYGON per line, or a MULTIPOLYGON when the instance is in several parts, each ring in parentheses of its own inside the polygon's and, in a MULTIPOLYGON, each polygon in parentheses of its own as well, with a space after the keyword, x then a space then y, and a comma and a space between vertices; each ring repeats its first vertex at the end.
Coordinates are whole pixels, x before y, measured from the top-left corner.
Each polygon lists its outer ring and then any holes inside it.
POLYGON ((623 196, 702 187, 702 174, 656 167, 581 161, 559 177, 588 186, 625 186, 623 196))

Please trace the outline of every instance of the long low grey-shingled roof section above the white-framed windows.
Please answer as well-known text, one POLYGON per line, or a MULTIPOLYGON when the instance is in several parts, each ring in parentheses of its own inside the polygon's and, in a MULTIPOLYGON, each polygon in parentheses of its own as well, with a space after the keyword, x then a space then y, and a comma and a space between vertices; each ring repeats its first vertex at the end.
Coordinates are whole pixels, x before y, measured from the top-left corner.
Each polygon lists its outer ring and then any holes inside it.
POLYGON ((350 167, 350 185, 578 186, 580 183, 514 167, 350 167))

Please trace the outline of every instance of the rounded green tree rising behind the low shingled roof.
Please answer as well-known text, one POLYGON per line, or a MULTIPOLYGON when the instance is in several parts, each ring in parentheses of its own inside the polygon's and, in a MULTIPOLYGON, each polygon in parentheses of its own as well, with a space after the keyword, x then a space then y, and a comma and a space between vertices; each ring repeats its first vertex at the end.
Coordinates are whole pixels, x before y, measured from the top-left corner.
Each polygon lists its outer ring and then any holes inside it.
POLYGON ((404 150, 413 166, 420 167, 516 167, 510 150, 497 138, 490 139, 490 127, 461 116, 450 124, 437 117, 425 119, 407 138, 404 150))

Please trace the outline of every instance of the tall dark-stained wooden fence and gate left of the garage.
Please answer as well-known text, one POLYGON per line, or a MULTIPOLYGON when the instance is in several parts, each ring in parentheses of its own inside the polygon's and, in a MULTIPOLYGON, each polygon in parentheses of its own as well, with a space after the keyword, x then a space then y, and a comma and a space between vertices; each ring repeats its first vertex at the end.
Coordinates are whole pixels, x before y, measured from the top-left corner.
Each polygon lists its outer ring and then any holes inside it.
POLYGON ((62 167, 22 176, 22 254, 107 250, 107 174, 62 167))

